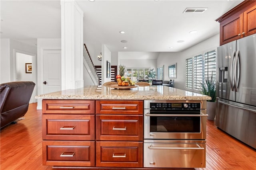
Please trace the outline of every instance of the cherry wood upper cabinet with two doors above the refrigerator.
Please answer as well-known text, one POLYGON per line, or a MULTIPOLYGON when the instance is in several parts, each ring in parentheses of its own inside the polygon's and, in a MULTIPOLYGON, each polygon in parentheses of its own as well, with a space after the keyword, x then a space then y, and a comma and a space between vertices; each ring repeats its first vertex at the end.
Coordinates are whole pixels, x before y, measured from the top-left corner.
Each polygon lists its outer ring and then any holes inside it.
POLYGON ((256 1, 244 1, 216 21, 220 22, 220 45, 256 33, 256 1))

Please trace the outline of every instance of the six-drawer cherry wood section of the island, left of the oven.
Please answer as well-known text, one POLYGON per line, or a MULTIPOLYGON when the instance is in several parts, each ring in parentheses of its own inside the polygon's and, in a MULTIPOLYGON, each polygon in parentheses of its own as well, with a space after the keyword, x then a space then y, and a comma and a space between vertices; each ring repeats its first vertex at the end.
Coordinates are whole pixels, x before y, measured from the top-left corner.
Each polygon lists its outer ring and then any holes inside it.
POLYGON ((42 100, 43 165, 143 169, 142 100, 42 100))

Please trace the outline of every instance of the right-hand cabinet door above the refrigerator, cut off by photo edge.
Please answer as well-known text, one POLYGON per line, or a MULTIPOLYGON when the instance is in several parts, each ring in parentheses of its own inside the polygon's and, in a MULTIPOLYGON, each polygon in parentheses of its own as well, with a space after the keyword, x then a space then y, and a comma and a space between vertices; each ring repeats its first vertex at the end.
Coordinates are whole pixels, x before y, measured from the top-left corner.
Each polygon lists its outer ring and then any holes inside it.
POLYGON ((256 6, 244 12, 244 32, 246 36, 256 33, 256 6))

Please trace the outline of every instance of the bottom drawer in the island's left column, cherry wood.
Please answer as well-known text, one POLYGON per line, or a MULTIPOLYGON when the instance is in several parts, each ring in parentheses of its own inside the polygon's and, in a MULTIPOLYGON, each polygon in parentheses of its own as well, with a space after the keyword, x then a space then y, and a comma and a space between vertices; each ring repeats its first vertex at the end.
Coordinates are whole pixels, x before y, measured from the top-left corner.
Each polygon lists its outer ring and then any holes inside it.
POLYGON ((43 141, 43 165, 95 166, 94 141, 43 141))

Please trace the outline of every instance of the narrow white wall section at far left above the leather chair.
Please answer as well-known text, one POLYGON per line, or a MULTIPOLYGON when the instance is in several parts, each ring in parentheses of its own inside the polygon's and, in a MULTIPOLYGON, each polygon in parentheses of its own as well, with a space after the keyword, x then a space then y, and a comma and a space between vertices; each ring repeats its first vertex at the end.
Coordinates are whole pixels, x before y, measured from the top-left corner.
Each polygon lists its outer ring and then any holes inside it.
POLYGON ((10 39, 1 39, 0 84, 10 82, 10 39))

